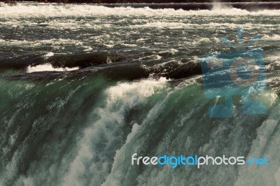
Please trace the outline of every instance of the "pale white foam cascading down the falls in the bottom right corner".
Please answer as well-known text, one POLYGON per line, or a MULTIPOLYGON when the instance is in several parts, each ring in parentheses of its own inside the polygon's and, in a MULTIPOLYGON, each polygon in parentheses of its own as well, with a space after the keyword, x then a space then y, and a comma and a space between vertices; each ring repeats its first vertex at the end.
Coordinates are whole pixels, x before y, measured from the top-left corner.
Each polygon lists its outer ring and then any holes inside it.
POLYGON ((273 108, 257 129, 257 135, 248 152, 248 159, 266 157, 268 165, 240 166, 235 185, 279 185, 279 112, 280 105, 273 108))

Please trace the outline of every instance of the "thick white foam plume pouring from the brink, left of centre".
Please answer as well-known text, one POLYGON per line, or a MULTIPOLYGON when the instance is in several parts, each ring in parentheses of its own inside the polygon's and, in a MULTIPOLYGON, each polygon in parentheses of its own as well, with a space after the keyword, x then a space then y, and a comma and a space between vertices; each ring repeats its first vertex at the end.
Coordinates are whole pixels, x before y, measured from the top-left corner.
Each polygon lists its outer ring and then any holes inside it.
MULTIPOLYGON (((76 157, 64 177, 64 185, 102 184, 102 177, 106 176, 111 169, 108 159, 106 159, 106 153, 109 152, 109 148, 115 147, 113 144, 119 140, 120 127, 123 127, 125 123, 125 113, 141 104, 148 96, 155 94, 157 90, 165 87, 166 81, 165 78, 160 78, 160 80, 119 83, 105 91, 107 96, 105 106, 96 110, 99 120, 85 129, 85 134, 78 143, 76 157), (100 148, 101 143, 102 148, 100 148), (90 176, 91 182, 94 183, 85 183, 85 176, 90 176)), ((134 124, 132 133, 127 136, 127 142, 137 134, 139 127, 138 124, 134 124)), ((113 151, 110 150, 110 152, 113 151)), ((109 158, 114 156, 109 155, 109 158)))

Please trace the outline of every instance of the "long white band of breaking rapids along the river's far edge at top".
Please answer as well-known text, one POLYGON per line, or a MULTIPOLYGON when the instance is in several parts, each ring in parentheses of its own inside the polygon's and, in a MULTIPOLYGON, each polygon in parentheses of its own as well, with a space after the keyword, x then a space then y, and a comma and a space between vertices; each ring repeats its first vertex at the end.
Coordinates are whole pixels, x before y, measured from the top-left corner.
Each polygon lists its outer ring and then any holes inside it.
MULTIPOLYGON (((211 4, 210 4, 211 5, 211 4)), ((276 3, 279 6, 278 3, 276 3)), ((263 10, 254 9, 255 11, 248 11, 239 8, 213 8, 207 10, 183 10, 182 4, 169 4, 167 7, 163 5, 160 9, 153 9, 149 4, 113 4, 113 5, 94 5, 94 4, 43 4, 43 3, 18 3, 15 6, 0 6, 0 15, 2 17, 22 17, 22 16, 40 16, 40 17, 57 17, 57 16, 110 16, 119 15, 123 17, 130 16, 189 16, 189 15, 280 15, 279 10, 263 10), (106 6, 113 6, 109 8, 106 6), (132 6, 139 6, 134 8, 132 6), (181 8, 170 8, 170 6, 180 6, 181 8)), ((186 5, 189 6, 189 5, 186 5)), ((251 6, 251 4, 248 4, 251 6)), ((242 6, 243 7, 243 6, 242 6)), ((274 6, 272 6, 274 7, 274 6)), ((276 6, 275 6, 276 7, 276 6)))

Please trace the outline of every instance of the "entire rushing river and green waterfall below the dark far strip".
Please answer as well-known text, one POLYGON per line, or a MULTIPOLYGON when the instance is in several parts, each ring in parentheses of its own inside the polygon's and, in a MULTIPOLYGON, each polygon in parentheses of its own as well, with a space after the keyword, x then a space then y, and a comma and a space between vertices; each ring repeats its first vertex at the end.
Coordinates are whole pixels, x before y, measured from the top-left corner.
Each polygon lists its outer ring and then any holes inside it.
POLYGON ((280 10, 0 3, 0 185, 280 185, 280 10), (200 56, 262 39, 267 115, 210 118, 200 56), (131 157, 269 166, 132 166, 131 157))

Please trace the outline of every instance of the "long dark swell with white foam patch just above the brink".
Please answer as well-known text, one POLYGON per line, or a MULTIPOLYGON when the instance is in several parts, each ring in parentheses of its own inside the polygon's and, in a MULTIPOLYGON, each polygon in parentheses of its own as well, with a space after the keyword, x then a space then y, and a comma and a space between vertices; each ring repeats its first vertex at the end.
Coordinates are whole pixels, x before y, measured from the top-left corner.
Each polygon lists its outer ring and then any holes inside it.
MULTIPOLYGON (((70 57, 71 58, 71 57, 70 57)), ((57 60, 57 58, 56 58, 57 60)), ((201 75, 201 66, 199 62, 195 61, 176 61, 158 63, 151 59, 146 62, 116 62, 93 65, 92 59, 87 67, 85 61, 73 61, 69 64, 57 63, 56 64, 38 64, 27 66, 27 73, 21 73, 13 76, 6 76, 6 80, 35 80, 35 81, 48 81, 55 79, 73 79, 83 78, 97 74, 108 78, 109 80, 138 80, 142 78, 165 77, 168 79, 181 79, 190 78, 193 76, 201 75), (78 64, 83 64, 80 69, 78 64)), ((63 61, 65 62, 65 61, 63 61)))

